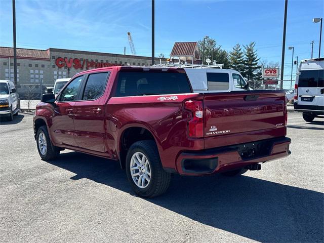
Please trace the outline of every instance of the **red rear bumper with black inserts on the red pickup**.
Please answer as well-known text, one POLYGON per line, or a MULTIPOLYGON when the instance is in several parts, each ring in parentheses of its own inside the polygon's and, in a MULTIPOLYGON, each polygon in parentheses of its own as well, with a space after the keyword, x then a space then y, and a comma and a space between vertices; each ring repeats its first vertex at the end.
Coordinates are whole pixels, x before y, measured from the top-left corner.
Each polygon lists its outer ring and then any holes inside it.
POLYGON ((208 175, 288 156, 290 138, 280 137, 200 151, 185 151, 176 160, 181 175, 208 175))

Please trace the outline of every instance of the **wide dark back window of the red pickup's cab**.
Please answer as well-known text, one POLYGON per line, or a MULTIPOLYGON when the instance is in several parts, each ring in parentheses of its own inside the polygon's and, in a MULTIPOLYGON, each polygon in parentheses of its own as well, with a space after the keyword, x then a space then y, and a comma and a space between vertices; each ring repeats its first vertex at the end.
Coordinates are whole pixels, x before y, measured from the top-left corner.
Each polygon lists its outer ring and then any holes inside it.
POLYGON ((119 72, 115 97, 191 93, 185 73, 119 72))

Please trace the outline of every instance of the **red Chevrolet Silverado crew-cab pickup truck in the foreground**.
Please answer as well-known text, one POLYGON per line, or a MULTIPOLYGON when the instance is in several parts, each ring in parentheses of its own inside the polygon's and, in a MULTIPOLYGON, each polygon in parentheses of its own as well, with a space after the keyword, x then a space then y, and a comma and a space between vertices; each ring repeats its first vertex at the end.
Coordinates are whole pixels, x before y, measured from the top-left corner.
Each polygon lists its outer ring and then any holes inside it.
POLYGON ((171 173, 235 176, 289 155, 286 102, 281 91, 193 93, 181 68, 105 67, 43 95, 34 134, 42 159, 70 149, 117 160, 153 197, 171 173))

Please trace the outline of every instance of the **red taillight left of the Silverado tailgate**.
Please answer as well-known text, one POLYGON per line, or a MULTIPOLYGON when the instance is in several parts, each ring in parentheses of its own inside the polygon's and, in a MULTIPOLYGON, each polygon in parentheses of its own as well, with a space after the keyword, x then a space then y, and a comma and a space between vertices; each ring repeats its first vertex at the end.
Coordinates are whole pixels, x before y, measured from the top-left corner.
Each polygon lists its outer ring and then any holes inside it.
POLYGON ((200 100, 188 100, 184 108, 192 112, 192 118, 188 121, 188 134, 192 138, 204 137, 204 105, 200 100))

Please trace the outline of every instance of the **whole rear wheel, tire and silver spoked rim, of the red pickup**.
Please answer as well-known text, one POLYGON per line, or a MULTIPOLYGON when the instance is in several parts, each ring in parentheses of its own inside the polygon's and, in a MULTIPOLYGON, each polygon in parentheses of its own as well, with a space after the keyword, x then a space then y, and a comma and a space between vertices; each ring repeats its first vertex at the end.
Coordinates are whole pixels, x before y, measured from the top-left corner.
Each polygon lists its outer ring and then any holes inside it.
POLYGON ((152 140, 132 144, 126 157, 126 173, 133 190, 142 197, 163 194, 170 185, 171 175, 162 168, 152 140))

